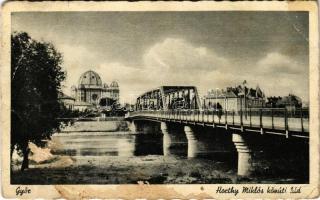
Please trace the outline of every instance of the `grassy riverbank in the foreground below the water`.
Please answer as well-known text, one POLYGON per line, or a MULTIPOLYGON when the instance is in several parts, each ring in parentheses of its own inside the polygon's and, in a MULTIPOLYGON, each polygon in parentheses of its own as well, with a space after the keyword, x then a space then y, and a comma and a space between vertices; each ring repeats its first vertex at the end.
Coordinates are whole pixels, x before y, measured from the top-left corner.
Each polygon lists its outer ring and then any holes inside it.
POLYGON ((232 184, 295 183, 294 179, 241 178, 225 163, 199 158, 53 156, 12 174, 12 184, 232 184))

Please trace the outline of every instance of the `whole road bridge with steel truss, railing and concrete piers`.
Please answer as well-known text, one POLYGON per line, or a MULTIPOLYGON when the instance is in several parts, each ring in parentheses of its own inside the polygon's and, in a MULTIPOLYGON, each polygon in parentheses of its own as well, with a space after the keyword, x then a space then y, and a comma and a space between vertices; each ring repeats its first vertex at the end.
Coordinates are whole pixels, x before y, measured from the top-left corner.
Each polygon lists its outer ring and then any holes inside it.
MULTIPOLYGON (((246 98, 245 94, 243 96, 246 98)), ((240 105, 243 105, 241 100, 240 105)), ((160 86, 139 96, 135 107, 135 111, 125 116, 131 129, 139 130, 138 126, 148 125, 147 121, 160 122, 164 155, 170 152, 169 125, 183 126, 188 140, 188 157, 197 155, 196 135, 201 127, 228 130, 238 152, 238 175, 242 176, 252 171, 252 143, 257 134, 278 135, 287 138, 286 141, 295 138, 304 144, 309 143, 308 108, 250 108, 245 103, 239 110, 230 111, 217 105, 206 108, 201 104, 195 86, 160 86), (137 121, 141 121, 140 125, 137 121)))

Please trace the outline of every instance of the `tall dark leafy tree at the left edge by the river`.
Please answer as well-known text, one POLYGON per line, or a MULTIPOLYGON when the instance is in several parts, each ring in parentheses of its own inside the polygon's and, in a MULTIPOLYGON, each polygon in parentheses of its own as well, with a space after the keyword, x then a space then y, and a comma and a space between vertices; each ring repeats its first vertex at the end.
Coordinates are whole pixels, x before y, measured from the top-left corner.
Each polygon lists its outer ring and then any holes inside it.
POLYGON ((27 33, 11 35, 11 155, 23 156, 28 168, 29 142, 43 146, 60 128, 58 92, 65 79, 62 55, 54 46, 27 33))

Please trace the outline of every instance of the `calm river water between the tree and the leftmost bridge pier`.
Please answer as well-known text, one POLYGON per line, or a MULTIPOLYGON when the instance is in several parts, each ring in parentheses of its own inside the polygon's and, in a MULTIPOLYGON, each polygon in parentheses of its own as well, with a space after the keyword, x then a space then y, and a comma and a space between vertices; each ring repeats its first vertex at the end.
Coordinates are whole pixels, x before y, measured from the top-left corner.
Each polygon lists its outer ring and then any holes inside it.
POLYGON ((163 155, 162 135, 129 132, 72 132, 54 135, 61 143, 55 154, 70 156, 163 155))

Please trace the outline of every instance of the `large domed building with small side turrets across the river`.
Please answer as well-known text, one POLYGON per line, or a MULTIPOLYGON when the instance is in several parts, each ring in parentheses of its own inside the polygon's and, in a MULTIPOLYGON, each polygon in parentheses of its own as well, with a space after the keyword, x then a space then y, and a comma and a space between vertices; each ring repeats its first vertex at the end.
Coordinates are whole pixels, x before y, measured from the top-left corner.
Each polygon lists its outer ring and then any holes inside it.
POLYGON ((103 97, 109 97, 119 102, 119 85, 113 81, 110 87, 102 83, 98 73, 89 70, 83 73, 78 81, 78 86, 71 87, 72 97, 76 99, 76 107, 89 108, 96 106, 103 97))

